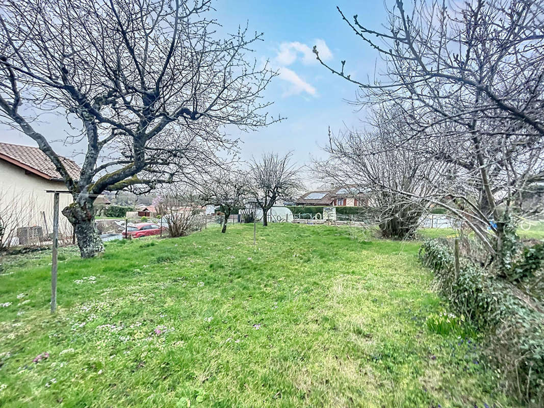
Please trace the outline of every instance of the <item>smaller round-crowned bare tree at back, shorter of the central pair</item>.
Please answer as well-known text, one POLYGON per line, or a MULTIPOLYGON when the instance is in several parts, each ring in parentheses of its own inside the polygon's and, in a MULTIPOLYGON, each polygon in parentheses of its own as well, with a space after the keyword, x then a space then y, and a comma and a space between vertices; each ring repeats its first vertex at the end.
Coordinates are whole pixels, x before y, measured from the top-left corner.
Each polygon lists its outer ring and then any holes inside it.
POLYGON ((248 197, 248 177, 238 169, 220 169, 202 183, 200 190, 206 203, 219 206, 225 214, 221 227, 225 233, 228 217, 234 209, 243 207, 248 197))

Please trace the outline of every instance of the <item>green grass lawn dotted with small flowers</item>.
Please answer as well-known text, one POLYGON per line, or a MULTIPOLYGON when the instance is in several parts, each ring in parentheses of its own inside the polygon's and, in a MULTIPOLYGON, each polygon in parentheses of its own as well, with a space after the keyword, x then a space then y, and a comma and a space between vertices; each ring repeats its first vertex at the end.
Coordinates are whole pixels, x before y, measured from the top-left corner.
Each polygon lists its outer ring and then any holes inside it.
POLYGON ((0 406, 516 406, 477 340, 427 329, 447 306, 419 244, 363 238, 276 224, 254 246, 229 225, 65 249, 55 316, 50 254, 4 261, 0 406))

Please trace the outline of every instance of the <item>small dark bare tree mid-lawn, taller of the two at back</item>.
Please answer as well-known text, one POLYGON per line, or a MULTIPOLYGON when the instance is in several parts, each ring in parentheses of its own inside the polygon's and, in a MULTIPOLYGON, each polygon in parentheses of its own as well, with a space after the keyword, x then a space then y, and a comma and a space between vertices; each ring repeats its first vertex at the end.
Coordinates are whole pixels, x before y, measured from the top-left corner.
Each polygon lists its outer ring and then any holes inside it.
POLYGON ((268 211, 278 199, 291 197, 304 188, 299 169, 290 163, 291 156, 290 152, 285 156, 267 153, 259 161, 253 158, 249 164, 251 196, 263 210, 263 226, 268 225, 268 211))

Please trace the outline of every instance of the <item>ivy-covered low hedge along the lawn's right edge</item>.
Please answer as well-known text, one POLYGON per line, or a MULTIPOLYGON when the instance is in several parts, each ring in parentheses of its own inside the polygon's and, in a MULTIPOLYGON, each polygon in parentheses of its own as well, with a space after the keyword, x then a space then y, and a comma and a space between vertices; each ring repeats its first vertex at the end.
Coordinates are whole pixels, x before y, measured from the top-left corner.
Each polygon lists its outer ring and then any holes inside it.
MULTIPOLYGON (((525 251, 522 275, 541 268, 540 244, 525 251)), ((461 257, 459 277, 453 250, 446 242, 430 240, 420 251, 422 263, 435 273, 440 293, 456 313, 485 333, 489 361, 497 364, 500 381, 529 406, 544 404, 544 309, 510 279, 461 257)), ((540 273, 542 271, 540 270, 540 273)))

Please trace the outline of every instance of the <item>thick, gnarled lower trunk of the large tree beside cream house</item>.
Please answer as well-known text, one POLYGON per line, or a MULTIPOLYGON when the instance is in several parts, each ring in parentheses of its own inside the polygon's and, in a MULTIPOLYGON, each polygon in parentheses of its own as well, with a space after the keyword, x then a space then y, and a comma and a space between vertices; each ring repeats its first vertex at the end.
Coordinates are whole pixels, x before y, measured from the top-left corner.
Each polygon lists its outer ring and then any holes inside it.
POLYGON ((88 198, 83 200, 71 203, 63 209, 63 214, 74 228, 81 257, 92 258, 104 252, 104 244, 95 225, 92 201, 88 198))

